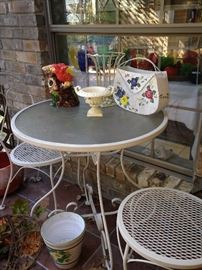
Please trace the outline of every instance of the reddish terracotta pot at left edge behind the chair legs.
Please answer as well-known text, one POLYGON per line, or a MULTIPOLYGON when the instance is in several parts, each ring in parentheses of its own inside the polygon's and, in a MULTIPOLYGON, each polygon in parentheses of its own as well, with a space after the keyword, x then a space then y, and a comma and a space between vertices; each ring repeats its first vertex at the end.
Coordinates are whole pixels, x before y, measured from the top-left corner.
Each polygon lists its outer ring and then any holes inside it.
MULTIPOLYGON (((0 197, 4 195, 6 186, 10 176, 10 161, 6 152, 0 152, 0 197)), ((15 174, 19 169, 18 166, 13 165, 13 173, 15 174)), ((16 191, 23 182, 24 170, 21 170, 10 184, 8 194, 16 191)))

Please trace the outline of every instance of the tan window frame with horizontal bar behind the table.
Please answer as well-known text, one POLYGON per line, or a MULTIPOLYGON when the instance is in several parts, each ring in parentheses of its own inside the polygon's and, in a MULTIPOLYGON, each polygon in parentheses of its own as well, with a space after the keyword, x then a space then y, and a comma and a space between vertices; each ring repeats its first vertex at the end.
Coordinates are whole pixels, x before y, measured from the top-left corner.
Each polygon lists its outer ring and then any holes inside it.
MULTIPOLYGON (((160 12, 163 13, 164 1, 160 1, 160 12)), ((46 22, 47 22, 47 33, 48 33, 48 47, 50 52, 50 58, 52 62, 57 60, 56 56, 56 42, 55 37, 58 34, 96 34, 96 35, 143 35, 143 36, 198 36, 202 37, 202 22, 201 23, 176 23, 176 24, 53 24, 51 18, 51 8, 50 0, 46 0, 46 22)), ((170 106, 171 108, 188 110, 199 112, 199 130, 196 134, 196 137, 202 136, 202 108, 199 109, 190 109, 181 106, 170 106)), ((151 167, 161 168, 162 171, 172 172, 176 176, 184 177, 184 179, 193 181, 196 177, 195 169, 196 163, 199 158, 199 145, 200 138, 197 139, 196 143, 196 156, 193 158, 193 169, 181 167, 176 164, 166 162, 164 160, 158 160, 152 157, 143 156, 141 158, 139 154, 131 154, 129 151, 126 151, 126 156, 132 157, 134 160, 140 164, 151 165, 151 167)))

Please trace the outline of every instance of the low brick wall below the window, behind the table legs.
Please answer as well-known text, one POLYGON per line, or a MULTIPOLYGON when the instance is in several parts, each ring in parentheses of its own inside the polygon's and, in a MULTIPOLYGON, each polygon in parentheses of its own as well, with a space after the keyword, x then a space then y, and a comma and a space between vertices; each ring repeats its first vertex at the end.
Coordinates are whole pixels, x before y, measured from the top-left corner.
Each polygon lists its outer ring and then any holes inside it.
MULTIPOLYGON (((176 176, 172 176, 152 167, 137 165, 132 158, 124 157, 125 170, 130 177, 127 180, 120 164, 119 154, 101 156, 100 175, 102 194, 112 199, 115 197, 124 198, 127 194, 139 188, 146 187, 169 187, 190 192, 193 190, 193 183, 187 182, 176 176)), ((80 159, 80 184, 83 185, 83 169, 86 165, 86 158, 80 159)), ((66 163, 65 177, 72 183, 77 182, 78 159, 71 158, 66 163)), ((89 166, 85 173, 86 182, 97 191, 96 166, 90 158, 89 166)), ((196 187, 196 190, 199 190, 196 187)))

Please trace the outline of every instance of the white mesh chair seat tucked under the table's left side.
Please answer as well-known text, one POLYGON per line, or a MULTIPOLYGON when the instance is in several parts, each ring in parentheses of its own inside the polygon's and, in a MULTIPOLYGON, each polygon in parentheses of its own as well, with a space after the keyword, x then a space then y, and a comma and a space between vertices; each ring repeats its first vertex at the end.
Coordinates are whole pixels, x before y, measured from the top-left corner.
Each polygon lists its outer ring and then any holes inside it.
POLYGON ((28 143, 17 145, 11 151, 10 158, 14 164, 26 167, 42 167, 61 161, 60 152, 28 143))

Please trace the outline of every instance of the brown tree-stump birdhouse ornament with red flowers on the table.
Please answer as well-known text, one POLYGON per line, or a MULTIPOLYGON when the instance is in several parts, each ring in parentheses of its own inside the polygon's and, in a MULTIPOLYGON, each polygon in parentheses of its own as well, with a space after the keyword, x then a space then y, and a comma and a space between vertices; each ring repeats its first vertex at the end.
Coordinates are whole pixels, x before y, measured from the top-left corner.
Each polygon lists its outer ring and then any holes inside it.
POLYGON ((64 63, 51 64, 42 67, 46 85, 54 107, 74 107, 79 105, 79 99, 74 91, 73 67, 64 63))

